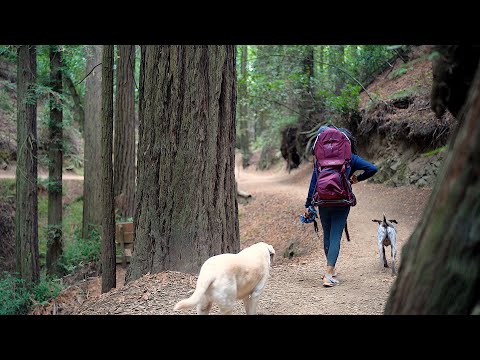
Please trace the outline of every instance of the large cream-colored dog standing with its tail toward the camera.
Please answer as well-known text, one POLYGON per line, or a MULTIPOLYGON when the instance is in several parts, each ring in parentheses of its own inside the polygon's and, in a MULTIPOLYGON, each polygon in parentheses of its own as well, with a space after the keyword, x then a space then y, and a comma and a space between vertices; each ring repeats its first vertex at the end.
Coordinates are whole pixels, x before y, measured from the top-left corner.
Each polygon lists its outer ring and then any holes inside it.
POLYGON ((196 306, 197 314, 207 315, 216 303, 222 314, 231 314, 241 299, 247 315, 255 315, 274 255, 272 245, 259 242, 238 254, 212 256, 202 265, 192 296, 179 301, 173 310, 196 306))

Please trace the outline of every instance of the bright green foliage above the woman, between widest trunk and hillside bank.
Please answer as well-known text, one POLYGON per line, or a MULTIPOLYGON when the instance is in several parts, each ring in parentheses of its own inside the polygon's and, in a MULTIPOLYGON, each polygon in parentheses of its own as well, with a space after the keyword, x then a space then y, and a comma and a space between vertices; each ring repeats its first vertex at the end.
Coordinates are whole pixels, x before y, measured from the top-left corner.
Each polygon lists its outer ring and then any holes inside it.
MULTIPOLYGON (((338 117, 358 110, 359 82, 366 85, 372 80, 402 46, 248 46, 246 79, 241 77, 238 47, 237 81, 246 83, 247 97, 238 94, 237 105, 248 107, 252 147, 278 149, 286 124, 304 123, 319 112, 338 117)), ((237 127, 237 136, 239 132, 237 127)))

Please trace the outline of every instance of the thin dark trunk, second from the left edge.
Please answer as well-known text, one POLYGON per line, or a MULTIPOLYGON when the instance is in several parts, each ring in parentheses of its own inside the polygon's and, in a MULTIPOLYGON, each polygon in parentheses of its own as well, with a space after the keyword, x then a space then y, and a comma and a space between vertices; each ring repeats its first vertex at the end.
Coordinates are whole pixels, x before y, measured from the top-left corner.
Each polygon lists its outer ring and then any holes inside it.
POLYGON ((50 45, 50 123, 48 143, 48 231, 47 274, 60 274, 58 260, 62 255, 62 58, 57 46, 50 45))

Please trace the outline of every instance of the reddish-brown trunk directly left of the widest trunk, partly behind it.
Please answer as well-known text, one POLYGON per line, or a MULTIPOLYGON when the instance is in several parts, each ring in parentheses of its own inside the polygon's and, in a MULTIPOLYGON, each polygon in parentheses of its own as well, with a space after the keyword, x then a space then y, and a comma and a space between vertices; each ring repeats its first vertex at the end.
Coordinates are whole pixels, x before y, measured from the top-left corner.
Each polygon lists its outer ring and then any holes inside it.
POLYGON ((120 217, 133 217, 135 197, 135 45, 118 45, 114 184, 120 217))

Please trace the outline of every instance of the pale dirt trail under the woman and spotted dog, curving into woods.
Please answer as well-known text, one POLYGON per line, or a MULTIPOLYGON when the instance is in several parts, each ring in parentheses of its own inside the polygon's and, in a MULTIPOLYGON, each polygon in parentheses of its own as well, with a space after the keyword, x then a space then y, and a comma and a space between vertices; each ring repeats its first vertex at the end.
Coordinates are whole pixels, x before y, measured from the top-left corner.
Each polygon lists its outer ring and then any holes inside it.
MULTIPOLYGON (((244 191, 270 196, 284 196, 288 203, 304 210, 311 166, 295 175, 284 172, 264 175, 241 172, 238 184, 244 191), (296 179, 295 177, 299 178, 296 179)), ((360 182, 353 186, 357 206, 351 209, 348 226, 351 241, 342 238, 337 261, 340 284, 323 288, 321 275, 326 264, 322 240, 316 249, 297 264, 273 266, 265 290, 265 313, 281 314, 381 314, 394 280, 391 269, 378 265, 376 223, 385 212, 398 221, 397 266, 401 248, 415 229, 430 189, 413 187, 388 188, 380 184, 360 182)), ((320 226, 320 223, 319 223, 320 226)), ((320 230, 321 231, 321 230, 320 230)), ((313 232, 313 230, 312 230, 313 232)), ((321 236, 322 237, 322 236, 321 236)), ((387 251, 389 254, 390 251, 387 251)), ((387 257, 390 262, 390 256, 387 257)), ((262 306, 263 305, 263 306, 262 306)))

